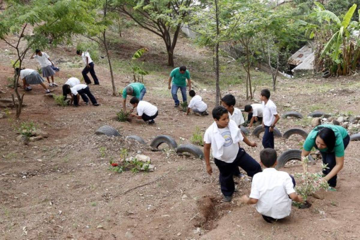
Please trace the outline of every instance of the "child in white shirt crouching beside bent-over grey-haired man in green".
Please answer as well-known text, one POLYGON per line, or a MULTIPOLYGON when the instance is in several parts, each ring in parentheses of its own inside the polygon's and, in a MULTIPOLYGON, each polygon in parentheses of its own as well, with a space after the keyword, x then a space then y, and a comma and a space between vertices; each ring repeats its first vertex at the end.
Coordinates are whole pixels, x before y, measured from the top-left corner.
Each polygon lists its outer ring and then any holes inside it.
POLYGON ((138 115, 130 113, 131 117, 143 119, 145 122, 148 121, 149 124, 155 123, 154 118, 156 118, 159 113, 157 107, 147 101, 139 101, 136 97, 130 99, 130 104, 132 105, 132 109, 136 108, 136 111, 138 112, 138 115))

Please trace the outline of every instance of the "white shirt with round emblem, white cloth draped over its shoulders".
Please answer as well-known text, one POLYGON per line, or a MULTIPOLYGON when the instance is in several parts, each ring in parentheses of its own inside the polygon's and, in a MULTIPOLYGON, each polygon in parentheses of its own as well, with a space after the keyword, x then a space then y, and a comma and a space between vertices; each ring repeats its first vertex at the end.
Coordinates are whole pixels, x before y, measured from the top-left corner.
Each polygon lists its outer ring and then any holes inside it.
POLYGON ((210 127, 208 127, 208 129, 205 131, 204 142, 207 144, 211 144, 212 155, 214 158, 227 163, 232 163, 234 162, 236 155, 235 158, 233 158, 230 155, 228 155, 230 153, 224 153, 224 150, 226 151, 231 150, 232 154, 238 154, 239 151, 238 142, 242 141, 244 137, 241 134, 241 131, 238 128, 237 124, 233 120, 229 121, 228 128, 229 128, 230 136, 228 136, 229 135, 228 133, 227 135, 224 134, 224 136, 222 136, 221 131, 217 127, 216 122, 213 122, 210 125, 210 127), (229 137, 232 140, 231 147, 233 147, 230 149, 228 149, 228 146, 225 146, 230 143, 229 137))

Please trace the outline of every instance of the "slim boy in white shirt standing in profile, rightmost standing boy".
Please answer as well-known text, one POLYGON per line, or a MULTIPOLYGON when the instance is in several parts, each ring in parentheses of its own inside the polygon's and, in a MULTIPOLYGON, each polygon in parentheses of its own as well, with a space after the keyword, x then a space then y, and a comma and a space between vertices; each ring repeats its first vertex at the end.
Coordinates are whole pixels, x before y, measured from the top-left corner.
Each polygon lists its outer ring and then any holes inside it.
POLYGON ((280 116, 276 111, 276 105, 269 98, 270 90, 261 90, 262 127, 265 129, 264 136, 262 137, 262 146, 264 146, 264 148, 274 148, 274 127, 280 119, 280 116))

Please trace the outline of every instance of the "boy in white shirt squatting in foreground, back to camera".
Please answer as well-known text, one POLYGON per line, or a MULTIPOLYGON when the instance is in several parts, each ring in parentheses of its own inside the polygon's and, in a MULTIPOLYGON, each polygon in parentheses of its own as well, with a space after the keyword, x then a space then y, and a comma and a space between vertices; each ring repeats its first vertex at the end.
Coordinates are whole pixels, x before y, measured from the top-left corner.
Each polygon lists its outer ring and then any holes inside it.
POLYGON ((260 152, 265 169, 252 178, 250 195, 240 199, 246 204, 256 204, 256 210, 269 223, 290 215, 291 200, 303 202, 301 196, 295 193, 293 176, 275 169, 276 157, 276 151, 271 148, 260 152))

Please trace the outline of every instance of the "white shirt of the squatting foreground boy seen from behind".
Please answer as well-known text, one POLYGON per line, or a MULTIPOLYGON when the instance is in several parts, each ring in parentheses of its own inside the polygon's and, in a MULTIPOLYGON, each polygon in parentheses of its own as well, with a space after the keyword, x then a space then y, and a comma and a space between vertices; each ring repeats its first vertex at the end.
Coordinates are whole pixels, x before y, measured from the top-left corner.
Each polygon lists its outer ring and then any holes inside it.
POLYGON ((265 168, 252 178, 249 198, 258 199, 256 210, 272 218, 284 218, 291 212, 289 194, 295 193, 289 173, 265 168))

